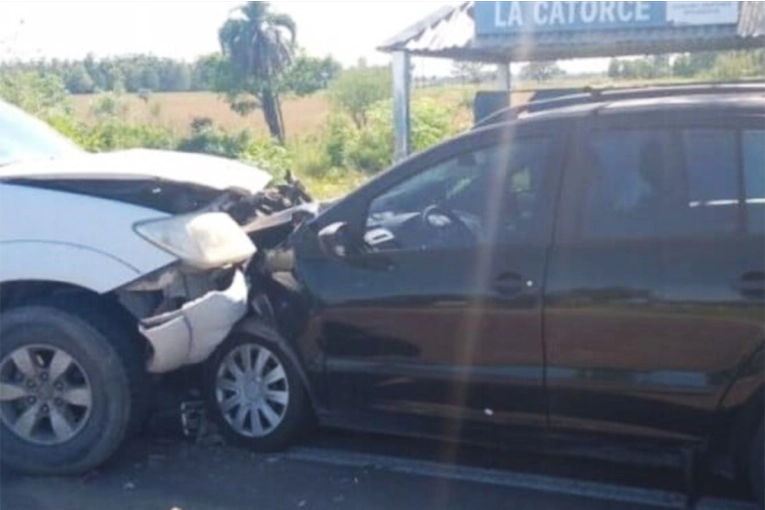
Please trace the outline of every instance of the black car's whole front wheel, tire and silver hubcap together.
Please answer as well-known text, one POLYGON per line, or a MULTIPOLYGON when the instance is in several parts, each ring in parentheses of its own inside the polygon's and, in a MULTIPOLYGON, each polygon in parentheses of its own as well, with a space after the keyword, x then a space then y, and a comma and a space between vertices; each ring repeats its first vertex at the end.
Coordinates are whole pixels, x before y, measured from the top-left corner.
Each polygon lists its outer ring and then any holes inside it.
POLYGON ((293 358, 280 345, 232 336, 206 362, 204 373, 208 413, 231 443, 279 451, 310 429, 306 388, 293 358))

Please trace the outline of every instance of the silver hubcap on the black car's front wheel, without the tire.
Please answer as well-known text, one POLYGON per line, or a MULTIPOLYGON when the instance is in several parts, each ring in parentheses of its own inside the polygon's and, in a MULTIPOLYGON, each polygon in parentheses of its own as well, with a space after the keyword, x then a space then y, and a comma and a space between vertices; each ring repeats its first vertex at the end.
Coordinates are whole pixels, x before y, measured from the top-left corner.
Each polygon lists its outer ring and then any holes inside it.
POLYGON ((289 405, 284 367, 265 347, 241 345, 218 368, 215 398, 229 425, 246 437, 263 437, 279 426, 289 405))

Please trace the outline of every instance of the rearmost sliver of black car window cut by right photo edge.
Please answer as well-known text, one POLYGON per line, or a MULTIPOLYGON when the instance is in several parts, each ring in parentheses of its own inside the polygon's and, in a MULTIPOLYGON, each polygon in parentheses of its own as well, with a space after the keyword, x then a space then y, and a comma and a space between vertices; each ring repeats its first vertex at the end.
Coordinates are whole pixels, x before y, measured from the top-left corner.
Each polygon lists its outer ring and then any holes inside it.
POLYGON ((741 135, 749 231, 765 232, 765 131, 741 135))

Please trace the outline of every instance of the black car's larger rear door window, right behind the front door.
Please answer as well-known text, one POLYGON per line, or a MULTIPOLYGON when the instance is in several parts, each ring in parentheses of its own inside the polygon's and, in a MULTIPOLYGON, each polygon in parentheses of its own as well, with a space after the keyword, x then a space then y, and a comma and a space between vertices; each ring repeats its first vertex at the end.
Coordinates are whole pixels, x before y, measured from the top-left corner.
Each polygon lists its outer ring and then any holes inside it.
POLYGON ((661 234, 666 214, 669 136, 665 130, 592 133, 583 148, 581 235, 589 239, 661 234))

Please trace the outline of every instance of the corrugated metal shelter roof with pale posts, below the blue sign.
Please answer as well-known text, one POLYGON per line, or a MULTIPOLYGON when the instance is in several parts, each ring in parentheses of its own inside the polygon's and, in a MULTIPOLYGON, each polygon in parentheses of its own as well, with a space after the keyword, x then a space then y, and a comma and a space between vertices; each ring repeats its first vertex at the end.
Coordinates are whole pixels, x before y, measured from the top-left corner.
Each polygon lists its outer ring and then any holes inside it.
POLYGON ((383 43, 393 57, 396 159, 409 154, 410 56, 499 64, 510 91, 510 62, 763 48, 765 0, 740 0, 738 24, 560 30, 476 37, 475 1, 439 9, 383 43))

